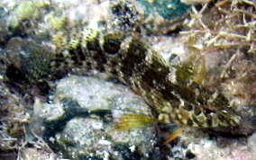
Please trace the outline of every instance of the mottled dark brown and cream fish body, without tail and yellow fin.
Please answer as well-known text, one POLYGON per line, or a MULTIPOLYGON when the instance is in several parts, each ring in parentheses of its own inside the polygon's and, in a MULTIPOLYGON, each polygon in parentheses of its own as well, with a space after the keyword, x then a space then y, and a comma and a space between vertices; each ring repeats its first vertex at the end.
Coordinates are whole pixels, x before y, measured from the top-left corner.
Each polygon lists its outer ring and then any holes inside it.
POLYGON ((73 29, 59 32, 53 42, 56 58, 52 68, 83 67, 111 73, 141 94, 160 121, 200 128, 235 127, 242 121, 224 95, 196 83, 172 83, 169 66, 160 55, 132 35, 73 29))

